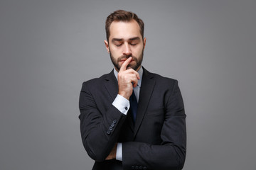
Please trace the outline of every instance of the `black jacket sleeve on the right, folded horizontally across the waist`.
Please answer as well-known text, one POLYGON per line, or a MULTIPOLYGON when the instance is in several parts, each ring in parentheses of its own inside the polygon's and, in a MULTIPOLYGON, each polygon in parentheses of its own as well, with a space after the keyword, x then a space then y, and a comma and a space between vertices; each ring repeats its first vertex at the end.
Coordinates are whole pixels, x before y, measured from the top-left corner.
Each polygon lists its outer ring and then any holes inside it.
POLYGON ((166 115, 161 128, 161 145, 145 142, 122 144, 124 169, 182 169, 186 157, 186 122, 183 99, 178 88, 168 94, 166 115))

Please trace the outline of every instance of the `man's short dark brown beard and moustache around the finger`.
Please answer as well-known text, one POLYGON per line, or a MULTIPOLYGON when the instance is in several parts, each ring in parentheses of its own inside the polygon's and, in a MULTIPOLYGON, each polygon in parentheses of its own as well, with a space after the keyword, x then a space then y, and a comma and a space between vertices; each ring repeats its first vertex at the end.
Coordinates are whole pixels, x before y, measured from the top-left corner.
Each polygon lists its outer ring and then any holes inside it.
POLYGON ((112 56, 111 54, 111 50, 110 50, 110 59, 114 65, 114 67, 118 70, 120 70, 121 68, 121 64, 119 64, 119 62, 122 60, 122 59, 128 59, 129 57, 132 57, 132 60, 135 62, 135 64, 131 64, 129 63, 128 66, 127 66, 127 69, 128 68, 131 68, 131 69, 134 69, 135 71, 137 71, 137 69, 139 69, 139 67, 142 65, 142 60, 143 60, 143 53, 144 50, 142 50, 142 52, 140 53, 139 57, 134 57, 133 55, 122 55, 121 57, 118 57, 117 60, 112 56))

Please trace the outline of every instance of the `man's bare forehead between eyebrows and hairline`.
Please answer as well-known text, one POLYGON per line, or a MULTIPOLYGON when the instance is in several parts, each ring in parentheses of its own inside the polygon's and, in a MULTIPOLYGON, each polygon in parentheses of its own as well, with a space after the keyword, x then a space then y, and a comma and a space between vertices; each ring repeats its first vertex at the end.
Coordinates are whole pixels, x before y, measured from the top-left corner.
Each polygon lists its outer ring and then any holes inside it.
POLYGON ((123 38, 129 39, 133 37, 142 38, 139 31, 139 24, 137 21, 132 20, 129 22, 124 21, 113 21, 110 24, 110 39, 112 38, 123 38))

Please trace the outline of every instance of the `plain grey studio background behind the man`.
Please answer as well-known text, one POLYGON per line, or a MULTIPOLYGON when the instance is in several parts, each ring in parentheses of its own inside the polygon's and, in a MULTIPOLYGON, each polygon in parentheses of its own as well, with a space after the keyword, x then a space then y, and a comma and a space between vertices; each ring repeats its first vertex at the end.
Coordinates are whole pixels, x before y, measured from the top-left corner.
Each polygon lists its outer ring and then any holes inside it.
POLYGON ((143 65, 178 79, 184 169, 256 169, 256 1, 0 1, 0 169, 91 169, 82 147, 82 81, 112 69, 105 18, 145 23, 143 65))

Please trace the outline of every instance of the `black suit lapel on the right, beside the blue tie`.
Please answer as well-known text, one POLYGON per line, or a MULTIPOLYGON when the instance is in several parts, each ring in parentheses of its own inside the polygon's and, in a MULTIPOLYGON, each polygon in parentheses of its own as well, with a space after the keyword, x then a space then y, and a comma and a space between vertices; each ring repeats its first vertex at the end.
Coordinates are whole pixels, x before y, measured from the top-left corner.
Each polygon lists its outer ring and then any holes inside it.
POLYGON ((142 120, 146 113, 146 108, 149 105, 149 100, 153 92, 155 80, 152 74, 150 74, 143 67, 142 87, 139 92, 139 103, 137 108, 137 117, 135 120, 134 137, 137 135, 142 120))

